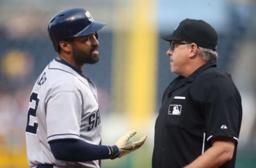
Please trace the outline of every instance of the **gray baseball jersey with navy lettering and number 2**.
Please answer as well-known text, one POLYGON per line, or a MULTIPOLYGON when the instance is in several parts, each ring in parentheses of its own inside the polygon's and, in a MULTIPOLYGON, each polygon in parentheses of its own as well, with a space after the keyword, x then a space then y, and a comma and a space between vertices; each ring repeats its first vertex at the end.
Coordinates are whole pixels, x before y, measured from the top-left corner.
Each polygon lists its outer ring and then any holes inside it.
POLYGON ((99 145, 101 121, 94 83, 55 58, 39 75, 30 95, 26 127, 30 167, 99 167, 99 161, 74 163, 55 159, 48 142, 65 138, 99 145))

